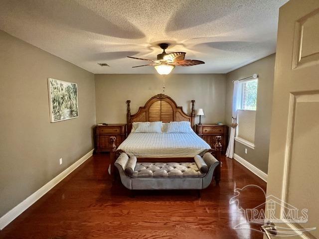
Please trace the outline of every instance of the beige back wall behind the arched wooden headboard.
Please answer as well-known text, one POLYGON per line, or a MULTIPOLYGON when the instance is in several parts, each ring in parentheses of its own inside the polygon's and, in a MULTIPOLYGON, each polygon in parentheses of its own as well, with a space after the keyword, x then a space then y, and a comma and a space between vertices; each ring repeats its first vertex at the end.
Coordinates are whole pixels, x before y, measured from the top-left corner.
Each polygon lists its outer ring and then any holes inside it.
MULTIPOLYGON (((190 114, 191 100, 195 109, 203 108, 202 122, 224 122, 224 74, 171 74, 165 76, 165 95, 190 114)), ((162 93, 162 76, 158 74, 95 75, 96 121, 125 123, 126 101, 131 100, 135 114, 152 96, 162 93)), ((198 123, 198 117, 195 122, 198 123)))

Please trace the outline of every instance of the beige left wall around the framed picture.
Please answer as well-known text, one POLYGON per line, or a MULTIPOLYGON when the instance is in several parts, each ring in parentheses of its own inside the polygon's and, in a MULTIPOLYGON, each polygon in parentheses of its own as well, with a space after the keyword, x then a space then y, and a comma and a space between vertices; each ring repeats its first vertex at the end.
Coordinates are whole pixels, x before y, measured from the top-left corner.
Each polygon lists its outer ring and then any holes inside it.
POLYGON ((94 75, 0 31, 0 109, 1 217, 93 148, 94 75), (48 77, 78 84, 79 118, 50 123, 48 77))

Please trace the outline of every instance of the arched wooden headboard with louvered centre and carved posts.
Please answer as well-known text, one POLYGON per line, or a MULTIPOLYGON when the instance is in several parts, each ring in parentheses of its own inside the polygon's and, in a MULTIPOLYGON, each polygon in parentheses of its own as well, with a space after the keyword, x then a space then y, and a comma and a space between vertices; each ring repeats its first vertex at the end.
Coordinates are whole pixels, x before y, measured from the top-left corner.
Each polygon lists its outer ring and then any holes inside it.
POLYGON ((194 128, 194 119, 195 119, 195 109, 194 103, 195 101, 191 101, 191 115, 187 115, 183 108, 177 106, 175 101, 171 99, 169 96, 159 94, 153 96, 144 107, 140 107, 139 111, 131 115, 130 103, 128 100, 126 102, 128 104, 127 109, 127 125, 128 125, 128 133, 132 130, 133 122, 152 122, 152 121, 162 121, 162 122, 170 122, 170 121, 189 121, 192 128, 194 128))

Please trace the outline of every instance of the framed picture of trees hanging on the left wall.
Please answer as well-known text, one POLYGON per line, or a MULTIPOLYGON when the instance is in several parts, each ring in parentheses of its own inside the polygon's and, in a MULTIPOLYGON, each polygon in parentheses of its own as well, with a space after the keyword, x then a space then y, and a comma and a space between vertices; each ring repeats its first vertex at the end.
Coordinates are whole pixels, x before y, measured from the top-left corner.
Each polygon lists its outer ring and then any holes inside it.
POLYGON ((48 78, 51 122, 79 117, 78 85, 48 78))

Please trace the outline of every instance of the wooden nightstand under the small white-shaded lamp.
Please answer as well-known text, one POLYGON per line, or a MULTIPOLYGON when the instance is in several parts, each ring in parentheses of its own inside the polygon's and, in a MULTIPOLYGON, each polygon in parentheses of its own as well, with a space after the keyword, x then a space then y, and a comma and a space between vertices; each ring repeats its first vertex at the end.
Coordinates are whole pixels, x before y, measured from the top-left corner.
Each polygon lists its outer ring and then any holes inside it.
POLYGON ((221 136, 221 151, 226 152, 228 145, 228 126, 218 125, 215 123, 196 124, 196 133, 199 137, 204 139, 211 148, 215 145, 215 137, 221 136))

